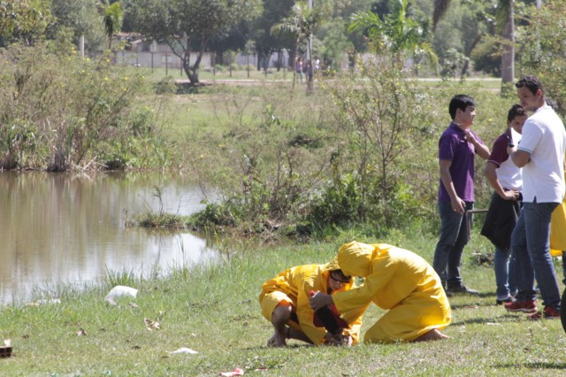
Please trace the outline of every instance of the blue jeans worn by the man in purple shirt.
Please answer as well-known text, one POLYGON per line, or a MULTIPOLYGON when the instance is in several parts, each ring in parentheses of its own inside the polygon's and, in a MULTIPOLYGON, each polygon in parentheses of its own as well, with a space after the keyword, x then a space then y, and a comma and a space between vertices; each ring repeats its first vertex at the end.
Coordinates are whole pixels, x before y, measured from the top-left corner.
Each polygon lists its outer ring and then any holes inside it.
MULTIPOLYGON (((466 211, 474 209, 473 202, 466 202, 466 211)), ((460 265, 463 248, 468 243, 468 230, 463 213, 456 213, 448 202, 439 203, 440 239, 434 250, 432 266, 445 288, 462 284, 460 265)))

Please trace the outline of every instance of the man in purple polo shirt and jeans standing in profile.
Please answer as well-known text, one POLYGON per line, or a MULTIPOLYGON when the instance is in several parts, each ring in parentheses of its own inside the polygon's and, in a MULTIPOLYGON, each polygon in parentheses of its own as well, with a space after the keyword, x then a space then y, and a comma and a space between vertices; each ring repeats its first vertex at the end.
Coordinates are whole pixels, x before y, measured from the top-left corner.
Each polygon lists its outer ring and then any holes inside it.
POLYGON ((439 141, 440 239, 434 250, 432 266, 448 296, 457 293, 478 294, 463 284, 460 274, 463 248, 468 243, 464 214, 474 208, 474 157, 487 159, 489 149, 471 129, 476 103, 470 96, 457 95, 448 106, 450 126, 439 141))

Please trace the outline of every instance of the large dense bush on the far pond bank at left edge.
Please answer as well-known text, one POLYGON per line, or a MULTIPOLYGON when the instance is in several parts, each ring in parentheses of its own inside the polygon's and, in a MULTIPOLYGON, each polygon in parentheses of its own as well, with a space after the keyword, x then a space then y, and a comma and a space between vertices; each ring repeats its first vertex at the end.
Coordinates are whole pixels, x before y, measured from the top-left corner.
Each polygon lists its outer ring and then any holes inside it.
POLYGON ((146 81, 111 56, 83 59, 37 44, 0 50, 0 60, 0 167, 122 168, 130 142, 154 137, 146 81))

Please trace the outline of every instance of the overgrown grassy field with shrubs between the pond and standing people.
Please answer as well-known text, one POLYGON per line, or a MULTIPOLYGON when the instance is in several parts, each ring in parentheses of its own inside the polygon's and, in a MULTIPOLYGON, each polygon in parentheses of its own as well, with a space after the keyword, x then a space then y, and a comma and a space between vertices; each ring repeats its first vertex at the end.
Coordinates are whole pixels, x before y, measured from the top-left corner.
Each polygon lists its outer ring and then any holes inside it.
MULTIPOLYGON (((468 93, 478 100, 474 130, 489 146, 516 99, 502 98, 493 80, 400 84, 390 77, 394 88, 381 88, 380 69, 367 73, 371 80, 321 78, 310 96, 304 85, 292 90, 290 82, 262 81, 167 96, 160 130, 171 166, 205 191, 222 192, 226 207, 214 212, 230 212, 243 233, 262 233, 265 224, 291 233, 363 222, 381 229, 412 219, 436 229, 438 137, 449 124, 449 99, 468 93), (402 102, 384 97, 387 90, 402 102), (356 98, 361 93, 367 97, 356 98), (350 99, 352 107, 344 108, 350 99)), ((483 169, 478 159, 477 208, 486 208, 492 192, 483 169)))

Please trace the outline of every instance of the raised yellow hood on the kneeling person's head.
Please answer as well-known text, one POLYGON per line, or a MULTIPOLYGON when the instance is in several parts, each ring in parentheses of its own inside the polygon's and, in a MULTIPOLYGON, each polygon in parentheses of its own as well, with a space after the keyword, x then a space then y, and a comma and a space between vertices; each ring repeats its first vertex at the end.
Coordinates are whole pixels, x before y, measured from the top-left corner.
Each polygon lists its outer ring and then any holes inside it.
POLYGON ((349 242, 338 250, 338 265, 343 273, 366 277, 371 273, 375 247, 362 242, 349 242))

